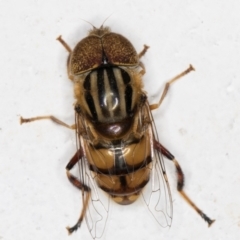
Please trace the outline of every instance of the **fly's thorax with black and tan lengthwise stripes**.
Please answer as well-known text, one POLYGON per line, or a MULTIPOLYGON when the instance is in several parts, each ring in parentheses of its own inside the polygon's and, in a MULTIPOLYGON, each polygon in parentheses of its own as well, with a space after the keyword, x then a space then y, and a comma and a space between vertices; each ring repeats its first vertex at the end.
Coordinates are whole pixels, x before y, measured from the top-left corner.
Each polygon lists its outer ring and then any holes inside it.
POLYGON ((115 139, 130 131, 140 98, 134 81, 127 70, 104 66, 89 72, 75 88, 82 114, 102 136, 115 139))

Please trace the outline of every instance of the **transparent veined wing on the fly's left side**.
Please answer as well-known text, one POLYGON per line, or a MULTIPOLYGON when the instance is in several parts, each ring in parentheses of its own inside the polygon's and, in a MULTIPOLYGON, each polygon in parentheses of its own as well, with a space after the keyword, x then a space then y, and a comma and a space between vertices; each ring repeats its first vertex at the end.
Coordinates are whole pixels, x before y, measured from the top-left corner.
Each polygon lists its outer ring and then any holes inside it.
POLYGON ((87 223, 88 230, 92 235, 93 239, 101 239, 108 218, 109 213, 109 195, 105 194, 96 183, 97 173, 90 171, 89 163, 86 158, 86 141, 83 138, 83 134, 86 133, 86 129, 83 129, 84 119, 79 115, 76 116, 76 142, 77 148, 82 149, 83 155, 78 161, 78 173, 79 181, 91 189, 90 197, 87 204, 84 203, 86 200, 87 193, 82 189, 82 214, 84 214, 84 219, 87 223), (84 209, 85 208, 85 209, 84 209))

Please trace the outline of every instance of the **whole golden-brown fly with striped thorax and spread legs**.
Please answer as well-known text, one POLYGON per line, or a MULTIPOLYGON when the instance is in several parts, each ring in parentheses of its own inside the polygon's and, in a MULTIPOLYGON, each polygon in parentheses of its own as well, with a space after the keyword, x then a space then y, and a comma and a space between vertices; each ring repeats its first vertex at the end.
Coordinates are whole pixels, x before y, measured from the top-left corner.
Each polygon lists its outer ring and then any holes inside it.
POLYGON ((75 124, 54 116, 21 118, 21 123, 50 119, 76 132, 77 151, 66 166, 69 181, 82 191, 82 211, 69 234, 86 220, 92 237, 100 238, 108 218, 109 199, 128 205, 142 195, 163 226, 172 221, 172 198, 163 157, 177 172, 177 190, 210 226, 211 220, 183 191, 184 175, 175 157, 158 141, 152 110, 159 108, 169 86, 194 68, 190 65, 166 83, 160 100, 149 104, 143 89, 145 68, 128 39, 108 27, 95 28, 69 52, 67 72, 74 84, 75 124), (70 170, 78 164, 79 176, 70 170), (147 186, 146 186, 147 185, 147 186), (101 194, 103 190, 107 194, 101 194))

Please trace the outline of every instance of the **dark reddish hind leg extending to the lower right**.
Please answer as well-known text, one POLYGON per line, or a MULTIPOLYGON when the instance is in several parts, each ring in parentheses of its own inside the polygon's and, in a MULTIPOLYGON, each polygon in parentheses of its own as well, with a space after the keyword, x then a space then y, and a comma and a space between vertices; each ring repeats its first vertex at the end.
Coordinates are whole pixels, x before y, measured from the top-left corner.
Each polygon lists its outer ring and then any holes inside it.
POLYGON ((184 174, 183 171, 175 159, 175 157, 165 148, 163 147, 159 142, 154 140, 154 148, 161 152, 166 158, 173 161, 176 172, 177 172, 177 190, 180 193, 180 195, 185 199, 185 201, 190 204, 190 206, 208 223, 208 226, 210 227, 212 223, 214 223, 215 220, 210 219, 202 210, 200 210, 195 203, 187 196, 187 194, 183 191, 184 187, 184 174))

